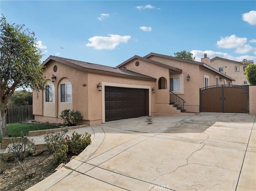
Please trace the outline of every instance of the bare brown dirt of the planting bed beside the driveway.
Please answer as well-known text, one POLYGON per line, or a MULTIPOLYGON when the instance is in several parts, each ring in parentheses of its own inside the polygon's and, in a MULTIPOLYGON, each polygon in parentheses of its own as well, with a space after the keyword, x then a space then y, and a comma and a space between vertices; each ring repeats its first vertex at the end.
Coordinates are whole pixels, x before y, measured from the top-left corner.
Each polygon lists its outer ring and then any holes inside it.
MULTIPOLYGON (((70 158, 71 156, 68 156, 65 163, 68 163, 70 158)), ((4 162, 5 170, 0 174, 1 191, 24 191, 54 173, 54 169, 58 166, 58 164, 54 165, 54 159, 49 151, 45 151, 38 156, 29 156, 26 159, 28 169, 38 167, 36 171, 33 171, 33 177, 22 177, 20 171, 14 165, 17 167, 14 160, 4 162)))

